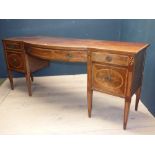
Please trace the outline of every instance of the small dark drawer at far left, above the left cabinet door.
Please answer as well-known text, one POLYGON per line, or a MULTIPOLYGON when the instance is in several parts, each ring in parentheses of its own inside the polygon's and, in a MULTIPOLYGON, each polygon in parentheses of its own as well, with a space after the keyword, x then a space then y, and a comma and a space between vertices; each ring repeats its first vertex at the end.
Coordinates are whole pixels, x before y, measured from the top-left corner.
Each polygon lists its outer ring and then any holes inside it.
POLYGON ((23 44, 21 42, 15 41, 4 41, 5 49, 7 50, 23 50, 23 44))

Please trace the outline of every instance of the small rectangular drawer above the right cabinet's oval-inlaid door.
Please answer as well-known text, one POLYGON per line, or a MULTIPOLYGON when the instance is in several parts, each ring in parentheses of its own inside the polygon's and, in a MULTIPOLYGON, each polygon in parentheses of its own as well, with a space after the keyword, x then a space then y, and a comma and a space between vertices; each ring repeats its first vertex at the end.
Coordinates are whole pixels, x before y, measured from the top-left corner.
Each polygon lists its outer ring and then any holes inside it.
POLYGON ((128 56, 111 54, 111 53, 101 53, 101 52, 92 52, 92 61, 101 62, 107 64, 114 64, 120 66, 128 66, 128 56))

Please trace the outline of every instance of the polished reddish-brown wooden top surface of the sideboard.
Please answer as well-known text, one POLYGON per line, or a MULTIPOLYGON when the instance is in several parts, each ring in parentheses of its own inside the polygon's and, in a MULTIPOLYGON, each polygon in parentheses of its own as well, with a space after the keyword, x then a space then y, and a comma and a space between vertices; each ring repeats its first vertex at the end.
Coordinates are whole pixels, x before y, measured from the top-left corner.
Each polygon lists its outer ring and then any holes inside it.
POLYGON ((75 38, 62 38, 62 37, 15 37, 4 40, 22 41, 34 45, 41 45, 46 47, 68 47, 68 48, 94 48, 105 50, 117 50, 122 52, 137 53, 140 50, 149 46, 147 43, 136 42, 119 42, 119 41, 105 41, 93 39, 75 39, 75 38))

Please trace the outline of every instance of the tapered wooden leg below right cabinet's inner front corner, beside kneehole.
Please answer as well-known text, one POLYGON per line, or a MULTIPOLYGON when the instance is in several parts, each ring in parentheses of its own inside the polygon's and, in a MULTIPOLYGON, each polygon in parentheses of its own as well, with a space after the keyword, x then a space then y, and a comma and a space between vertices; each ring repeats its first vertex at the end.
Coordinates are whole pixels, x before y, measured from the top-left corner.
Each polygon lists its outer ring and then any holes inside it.
POLYGON ((87 90, 88 116, 91 117, 93 90, 87 90))

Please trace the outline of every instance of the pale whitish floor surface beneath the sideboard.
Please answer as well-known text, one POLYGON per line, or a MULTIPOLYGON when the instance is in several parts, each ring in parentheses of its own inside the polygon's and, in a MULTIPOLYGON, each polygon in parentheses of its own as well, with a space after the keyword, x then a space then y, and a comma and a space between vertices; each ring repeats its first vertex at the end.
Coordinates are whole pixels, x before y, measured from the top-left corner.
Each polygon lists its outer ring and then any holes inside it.
POLYGON ((155 134, 155 118, 132 99, 127 130, 123 126, 124 100, 94 92, 88 118, 86 75, 34 78, 29 97, 24 78, 6 80, 0 87, 0 134, 155 134))

